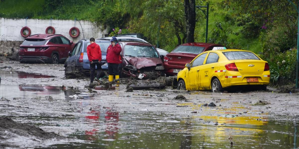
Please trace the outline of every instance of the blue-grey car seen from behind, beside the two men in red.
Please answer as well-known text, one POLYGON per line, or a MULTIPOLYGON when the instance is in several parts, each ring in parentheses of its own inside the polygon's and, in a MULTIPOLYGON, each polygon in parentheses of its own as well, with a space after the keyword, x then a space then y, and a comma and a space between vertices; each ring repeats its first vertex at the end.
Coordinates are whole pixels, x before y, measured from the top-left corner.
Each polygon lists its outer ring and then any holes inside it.
MULTIPOLYGON (((108 46, 111 44, 108 40, 95 40, 95 43, 98 44, 102 51, 102 72, 108 71, 107 61, 106 61, 106 52, 108 46)), ((82 39, 78 41, 74 49, 69 52, 69 57, 65 62, 65 73, 71 71, 80 71, 86 75, 90 75, 90 62, 87 56, 87 46, 90 44, 89 40, 82 39)), ((96 66, 97 69, 97 66, 96 66)))

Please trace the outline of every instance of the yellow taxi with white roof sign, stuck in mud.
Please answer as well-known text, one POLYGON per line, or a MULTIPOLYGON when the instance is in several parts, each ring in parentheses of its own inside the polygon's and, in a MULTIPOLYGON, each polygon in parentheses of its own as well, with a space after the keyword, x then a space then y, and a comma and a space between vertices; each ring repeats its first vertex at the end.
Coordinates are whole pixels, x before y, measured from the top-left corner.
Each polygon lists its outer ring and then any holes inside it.
POLYGON ((177 75, 178 89, 223 91, 239 85, 266 90, 269 64, 251 51, 215 48, 196 56, 177 75), (220 50, 218 50, 220 49, 220 50))

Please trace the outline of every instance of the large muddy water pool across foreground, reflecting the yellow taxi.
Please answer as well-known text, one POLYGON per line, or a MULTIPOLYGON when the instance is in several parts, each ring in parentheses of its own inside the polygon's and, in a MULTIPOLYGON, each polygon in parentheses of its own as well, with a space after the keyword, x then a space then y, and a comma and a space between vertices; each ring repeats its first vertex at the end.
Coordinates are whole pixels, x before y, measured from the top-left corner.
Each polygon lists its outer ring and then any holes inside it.
POLYGON ((99 95, 53 86, 1 85, 0 97, 10 100, 0 101, 1 115, 82 140, 68 144, 52 142, 54 145, 37 148, 298 148, 299 145, 296 137, 299 117, 268 117, 267 113, 248 116, 239 113, 246 109, 239 103, 230 108, 178 103, 193 111, 216 113, 180 117, 147 109, 126 111, 99 95), (74 94, 78 98, 68 97, 74 94))

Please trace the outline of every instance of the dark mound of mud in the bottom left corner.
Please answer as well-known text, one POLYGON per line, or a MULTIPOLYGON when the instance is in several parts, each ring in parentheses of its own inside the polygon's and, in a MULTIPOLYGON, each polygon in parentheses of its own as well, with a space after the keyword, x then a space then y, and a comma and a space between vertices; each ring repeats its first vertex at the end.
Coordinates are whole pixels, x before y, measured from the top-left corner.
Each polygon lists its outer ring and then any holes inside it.
MULTIPOLYGON (((2 141, 13 139, 14 137, 23 136, 31 141, 46 140, 46 139, 62 139, 62 136, 55 134, 54 132, 45 132, 41 128, 27 125, 13 121, 10 117, 0 117, 0 138, 2 141)), ((1 142, 2 142, 1 141, 1 142)), ((1 144, 5 145, 5 144, 1 144)), ((8 145, 8 144, 7 144, 8 145)), ((10 145, 8 145, 10 146, 10 145)))

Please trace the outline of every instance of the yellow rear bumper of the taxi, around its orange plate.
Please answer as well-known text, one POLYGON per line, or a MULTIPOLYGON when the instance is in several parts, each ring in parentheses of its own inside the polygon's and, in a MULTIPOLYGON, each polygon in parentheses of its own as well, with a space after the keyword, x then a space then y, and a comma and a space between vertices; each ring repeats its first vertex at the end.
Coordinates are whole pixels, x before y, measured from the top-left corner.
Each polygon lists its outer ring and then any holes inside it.
POLYGON ((270 72, 266 71, 260 75, 241 75, 239 72, 225 73, 220 77, 223 88, 239 85, 268 85, 270 82, 270 72), (248 77, 258 78, 258 82, 247 82, 248 77))

